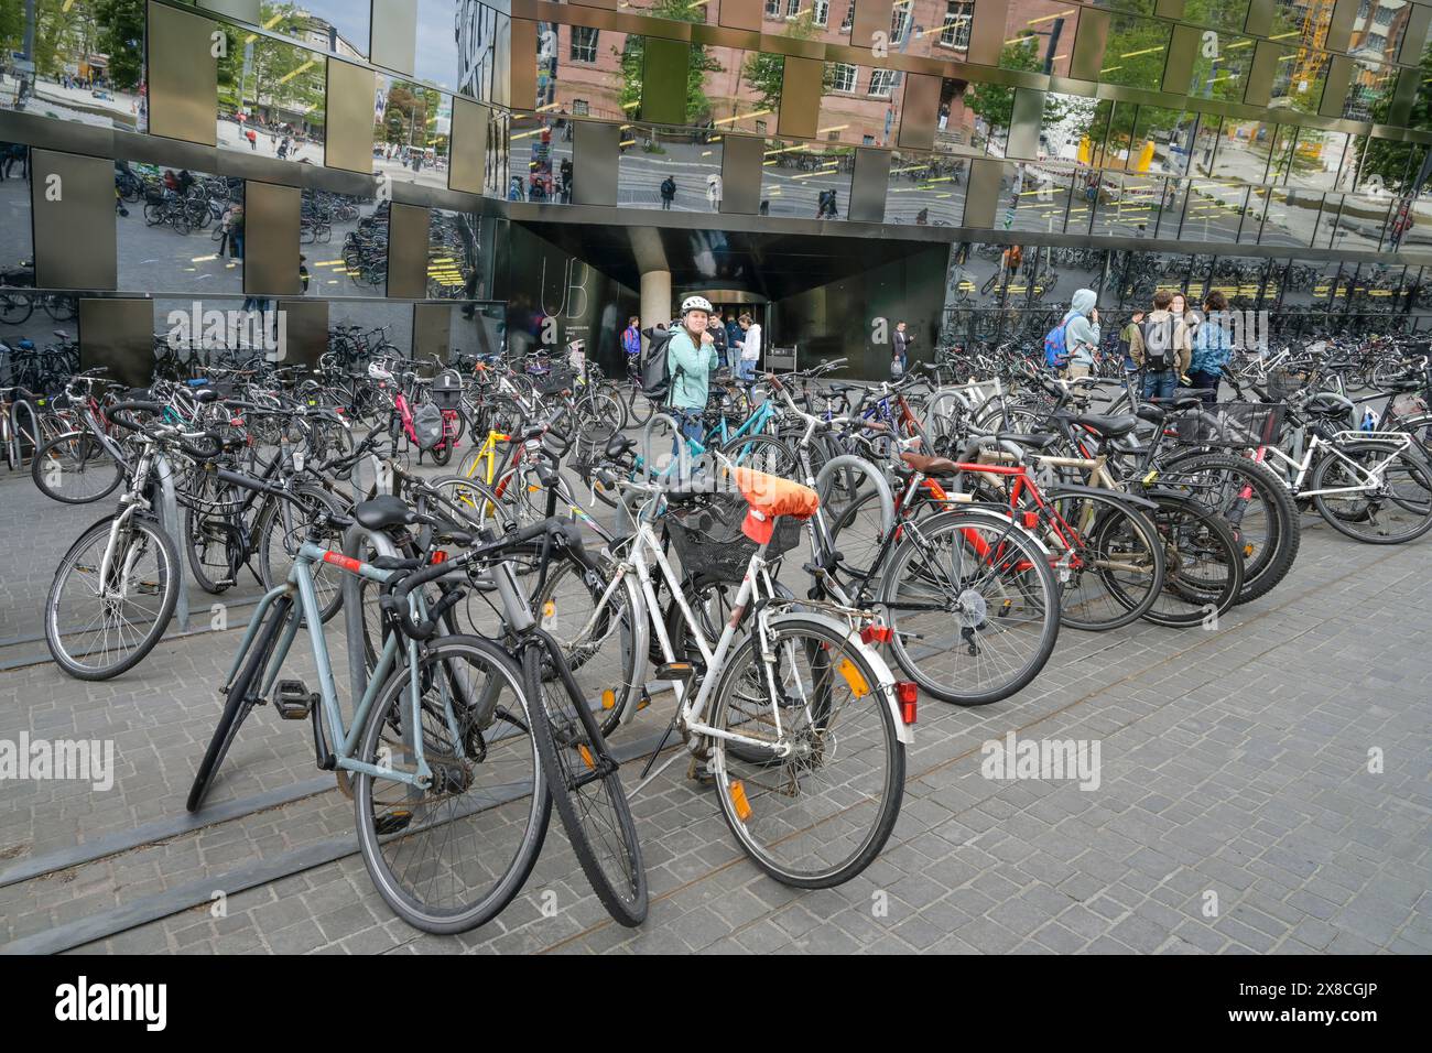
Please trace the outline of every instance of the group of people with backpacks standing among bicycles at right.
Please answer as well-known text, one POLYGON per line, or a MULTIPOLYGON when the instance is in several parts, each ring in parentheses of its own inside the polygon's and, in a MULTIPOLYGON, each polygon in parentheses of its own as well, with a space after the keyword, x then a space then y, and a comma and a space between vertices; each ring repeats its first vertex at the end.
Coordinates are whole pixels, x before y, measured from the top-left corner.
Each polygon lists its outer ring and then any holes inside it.
MULTIPOLYGON (((1100 345, 1098 295, 1077 289, 1060 322, 1067 350, 1063 374, 1088 377, 1100 345)), ((1150 311, 1134 311, 1118 332, 1118 348, 1127 372, 1141 374, 1144 398, 1170 398, 1181 388, 1217 401, 1223 367, 1233 352, 1227 321, 1229 301, 1217 289, 1203 298, 1203 312, 1189 308, 1183 292, 1158 289, 1150 311)))

